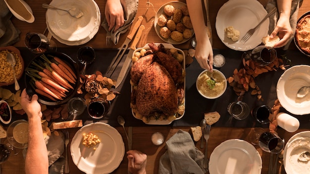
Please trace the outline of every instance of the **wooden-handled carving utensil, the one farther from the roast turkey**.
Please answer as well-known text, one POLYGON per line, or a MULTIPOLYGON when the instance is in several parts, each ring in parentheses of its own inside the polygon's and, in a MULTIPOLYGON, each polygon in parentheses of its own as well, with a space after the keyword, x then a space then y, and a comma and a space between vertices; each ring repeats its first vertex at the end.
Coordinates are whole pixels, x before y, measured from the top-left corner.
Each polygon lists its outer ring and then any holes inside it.
POLYGON ((122 46, 120 47, 119 51, 117 52, 116 56, 113 58, 111 64, 109 65, 109 67, 107 68, 107 71, 105 73, 106 77, 111 77, 112 73, 114 72, 116 66, 118 65, 118 63, 120 62, 120 60, 122 59, 128 44, 131 42, 131 40, 133 39, 133 37, 135 36, 135 34, 138 31, 139 26, 141 25, 143 20, 142 16, 138 17, 138 21, 135 23, 134 28, 132 30, 132 32, 127 36, 125 42, 122 44, 122 46), (123 51, 122 51, 123 50, 123 51), (122 53, 120 54, 120 52, 122 51, 122 53), (119 55, 120 54, 120 55, 119 55))

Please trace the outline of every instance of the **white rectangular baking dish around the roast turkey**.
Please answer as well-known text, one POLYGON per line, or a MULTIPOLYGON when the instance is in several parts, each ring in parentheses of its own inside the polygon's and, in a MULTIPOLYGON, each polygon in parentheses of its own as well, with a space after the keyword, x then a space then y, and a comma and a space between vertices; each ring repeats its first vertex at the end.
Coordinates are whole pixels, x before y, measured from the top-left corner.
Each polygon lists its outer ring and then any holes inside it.
MULTIPOLYGON (((157 45, 157 46, 158 46, 159 44, 160 44, 160 43, 155 43, 155 45, 157 45)), ((181 54, 183 55, 184 60, 185 60, 185 54, 184 54, 184 52, 183 52, 181 49, 175 48, 172 44, 162 43, 162 45, 164 46, 164 48, 167 48, 167 49, 174 48, 174 49, 178 50, 178 52, 181 53, 181 54)), ((133 55, 135 54, 135 52, 141 51, 141 49, 149 50, 149 49, 150 49, 150 46, 149 46, 149 44, 146 44, 146 45, 144 45, 142 48, 137 48, 137 49, 134 51, 133 55)), ((182 63, 183 63, 183 64, 182 64, 182 68, 183 68, 183 70, 185 71, 185 61, 183 61, 182 63)), ((185 81, 185 77, 184 77, 184 83, 183 83, 183 85, 184 85, 184 86, 183 86, 183 88, 184 88, 184 112, 183 112, 183 114, 182 114, 181 116, 179 116, 179 117, 176 118, 175 120, 181 119, 181 118, 184 116, 184 113, 185 113, 185 84, 186 84, 186 81, 185 81)), ((132 91, 132 89, 133 89, 133 86, 131 86, 131 91, 132 91)), ((137 118, 137 116, 136 116, 136 114, 134 113, 133 109, 131 109, 131 112, 132 112, 132 115, 133 115, 136 119, 139 119, 139 118, 137 118)), ((142 120, 142 119, 139 119, 139 120, 142 120)), ((145 123, 145 124, 147 124, 147 125, 169 125, 169 124, 171 124, 173 121, 174 121, 174 120, 169 121, 168 119, 167 119, 167 120, 150 120, 150 122, 145 123)))

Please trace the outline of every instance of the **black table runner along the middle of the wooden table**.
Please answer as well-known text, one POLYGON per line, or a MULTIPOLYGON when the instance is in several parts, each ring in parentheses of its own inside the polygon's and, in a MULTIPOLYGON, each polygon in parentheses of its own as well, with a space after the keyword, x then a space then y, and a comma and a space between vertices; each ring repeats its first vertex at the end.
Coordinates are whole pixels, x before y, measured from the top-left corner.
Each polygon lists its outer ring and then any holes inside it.
MULTIPOLYGON (((77 50, 79 47, 70 47, 70 48, 58 48, 57 51, 63 52, 70 56, 73 60, 77 61, 77 50)), ((18 47, 21 51, 21 55, 24 59, 25 66, 29 64, 29 61, 36 56, 36 54, 31 53, 25 47, 18 47)), ((95 49, 96 51, 96 60, 91 65, 88 65, 86 68, 86 74, 95 73, 96 70, 101 71, 103 74, 105 73, 107 66, 110 64, 113 56, 116 55, 117 49, 95 49)), ((128 50, 127 50, 128 51, 128 50)), ((226 76, 226 78, 233 75, 233 71, 235 68, 238 70, 243 67, 241 63, 241 55, 242 51, 235 51, 231 49, 214 49, 215 54, 222 54, 226 58, 226 63, 219 70, 226 76)), ((286 54, 289 59, 292 61, 293 65, 306 64, 310 65, 310 58, 306 55, 302 54, 298 50, 287 50, 285 52, 281 52, 278 50, 278 55, 286 54)), ((124 57, 127 56, 127 52, 124 57)), ((123 58, 124 60, 124 58, 123 58)), ((123 61, 122 60, 122 61, 123 61)), ((78 61, 77 61, 78 62, 78 61)), ((115 70, 115 73, 112 75, 112 79, 116 79, 118 72, 120 71, 122 62, 120 62, 119 66, 115 70)), ((290 67, 286 67, 287 69, 290 67)), ((217 123, 213 126, 215 127, 240 127, 240 128, 250 128, 253 127, 254 119, 250 115, 245 120, 235 120, 233 119, 227 112, 227 106, 230 102, 237 101, 237 95, 233 91, 232 87, 228 86, 225 93, 217 98, 217 99, 206 99, 202 97, 197 89, 196 89, 196 79, 198 75, 203 71, 203 69, 199 66, 198 62, 194 60, 194 62, 186 68, 186 91, 185 91, 185 114, 184 116, 177 121, 173 121, 170 125, 171 127, 176 126, 198 126, 200 121, 204 118, 205 112, 213 112, 217 111, 221 115, 221 118, 217 123)), ((284 70, 278 71, 269 71, 268 73, 263 73, 255 78, 255 81, 261 89, 262 97, 264 101, 258 101, 256 95, 251 95, 251 92, 247 92, 244 95, 243 101, 249 104, 250 108, 254 108, 259 104, 267 104, 272 107, 274 100, 277 98, 276 95, 276 85, 279 77, 283 74, 284 70)), ((21 78, 19 80, 21 88, 25 87, 25 82, 21 78)), ((8 86, 11 90, 13 89, 13 85, 8 86)), ((141 120, 138 120, 133 117, 130 108, 130 94, 131 94, 131 86, 130 86, 130 77, 127 75, 124 79, 124 82, 116 89, 121 94, 118 95, 112 102, 110 111, 107 116, 102 120, 93 120, 91 119, 87 111, 85 111, 81 116, 78 116, 77 119, 82 119, 83 124, 89 124, 92 122, 104 122, 113 127, 119 126, 117 123, 117 116, 121 115, 125 119, 125 126, 154 126, 147 125, 143 123, 141 120)), ((84 93, 85 94, 85 93, 84 93)), ((82 96, 82 95, 77 95, 82 96)), ((287 112, 284 108, 281 108, 281 112, 287 112)), ((16 113, 15 113, 16 115, 16 113)), ((290 114, 292 115, 292 114, 290 114)), ((309 128, 309 114, 304 116, 296 116, 301 125, 300 128, 309 128)), ((20 116, 15 116, 14 118, 21 119, 20 116)), ((267 127, 268 125, 260 125, 256 124, 257 127, 267 127)))

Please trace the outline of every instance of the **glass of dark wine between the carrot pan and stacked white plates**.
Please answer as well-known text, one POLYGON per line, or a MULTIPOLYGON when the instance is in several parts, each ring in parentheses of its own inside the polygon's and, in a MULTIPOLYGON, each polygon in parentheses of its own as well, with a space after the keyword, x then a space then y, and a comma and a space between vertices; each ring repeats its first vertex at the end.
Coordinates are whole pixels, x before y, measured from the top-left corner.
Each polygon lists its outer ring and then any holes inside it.
POLYGON ((25 45, 30 51, 36 54, 57 50, 56 43, 49 40, 41 33, 27 33, 25 37, 25 45))

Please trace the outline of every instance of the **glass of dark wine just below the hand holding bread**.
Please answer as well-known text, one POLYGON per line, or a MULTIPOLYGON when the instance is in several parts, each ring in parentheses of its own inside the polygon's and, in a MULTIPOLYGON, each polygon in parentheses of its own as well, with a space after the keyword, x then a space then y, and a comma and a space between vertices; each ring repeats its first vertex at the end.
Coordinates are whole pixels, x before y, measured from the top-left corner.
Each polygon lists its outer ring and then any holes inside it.
POLYGON ((242 58, 253 60, 256 66, 266 66, 277 57, 277 51, 270 46, 259 45, 251 51, 242 54, 242 58))

